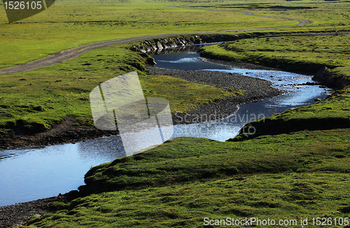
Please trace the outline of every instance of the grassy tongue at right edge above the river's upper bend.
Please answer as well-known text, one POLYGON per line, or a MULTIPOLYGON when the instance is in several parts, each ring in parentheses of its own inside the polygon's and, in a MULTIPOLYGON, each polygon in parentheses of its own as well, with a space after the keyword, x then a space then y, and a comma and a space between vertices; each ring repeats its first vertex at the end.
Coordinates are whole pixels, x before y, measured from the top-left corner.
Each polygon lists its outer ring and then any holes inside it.
POLYGON ((202 48, 201 55, 306 73, 327 66, 349 78, 349 45, 349 35, 248 38, 202 48))

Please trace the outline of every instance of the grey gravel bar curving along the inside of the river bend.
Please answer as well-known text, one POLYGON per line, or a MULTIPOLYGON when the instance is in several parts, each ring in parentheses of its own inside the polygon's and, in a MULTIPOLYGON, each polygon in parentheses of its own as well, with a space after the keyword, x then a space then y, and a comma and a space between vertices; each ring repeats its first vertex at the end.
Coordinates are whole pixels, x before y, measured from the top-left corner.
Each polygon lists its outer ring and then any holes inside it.
MULTIPOLYGON (((244 96, 230 97, 218 102, 207 104, 195 108, 187 115, 211 115, 215 116, 215 120, 220 120, 223 117, 234 114, 238 110, 238 106, 250 102, 269 99, 286 93, 285 90, 279 90, 272 87, 273 83, 268 80, 260 78, 253 78, 244 76, 239 73, 225 73, 218 71, 180 71, 173 69, 161 69, 152 67, 151 72, 154 75, 172 76, 174 78, 181 78, 191 83, 204 83, 205 85, 212 85, 214 87, 225 88, 233 87, 235 90, 245 90, 244 96)), ((200 118, 186 118, 184 113, 175 113, 173 115, 174 124, 193 124, 201 122, 200 118)), ((214 120, 211 119, 211 120, 214 120)))

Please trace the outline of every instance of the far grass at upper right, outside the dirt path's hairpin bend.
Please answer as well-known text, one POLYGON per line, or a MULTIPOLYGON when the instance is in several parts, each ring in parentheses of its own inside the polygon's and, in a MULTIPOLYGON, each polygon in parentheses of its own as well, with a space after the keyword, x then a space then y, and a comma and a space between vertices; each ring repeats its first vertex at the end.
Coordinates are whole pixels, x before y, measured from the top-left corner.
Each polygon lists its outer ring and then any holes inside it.
POLYGON ((249 11, 255 15, 277 17, 291 17, 302 20, 311 20, 313 23, 303 27, 286 28, 280 31, 349 31, 350 6, 347 1, 220 1, 220 2, 193 2, 190 8, 215 10, 249 11))

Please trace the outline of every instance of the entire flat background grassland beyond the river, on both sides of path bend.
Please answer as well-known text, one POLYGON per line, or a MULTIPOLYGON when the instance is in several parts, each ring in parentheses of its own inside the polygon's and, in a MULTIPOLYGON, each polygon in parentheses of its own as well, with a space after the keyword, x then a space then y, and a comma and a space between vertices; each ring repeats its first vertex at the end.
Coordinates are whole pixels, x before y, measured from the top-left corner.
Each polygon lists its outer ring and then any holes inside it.
MULTIPOLYGON (((14 66, 79 45, 117 38, 297 24, 272 17, 293 17, 314 23, 280 31, 348 31, 346 1, 56 1, 48 10, 8 24, 0 15, 0 68, 14 66), (189 4, 187 8, 175 8, 189 4), (289 8, 288 8, 289 7, 289 8), (203 10, 206 9, 206 10, 203 10), (214 10, 213 10, 214 9, 214 10), (292 10, 288 10, 292 9, 292 10), (228 10, 228 11, 220 11, 228 10)), ((2 4, 2 3, 1 3, 2 4)), ((2 8, 2 6, 1 6, 2 8)))

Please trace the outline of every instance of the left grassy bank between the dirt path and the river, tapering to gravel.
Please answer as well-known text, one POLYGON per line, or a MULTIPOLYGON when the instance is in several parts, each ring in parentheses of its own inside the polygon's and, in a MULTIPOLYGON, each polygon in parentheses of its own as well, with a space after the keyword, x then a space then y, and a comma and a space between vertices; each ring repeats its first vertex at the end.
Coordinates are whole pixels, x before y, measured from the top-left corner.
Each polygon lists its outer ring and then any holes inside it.
POLYGON ((3 136, 13 129, 35 133, 52 127, 66 115, 78 124, 92 125, 89 94, 106 80, 138 71, 145 97, 164 97, 173 113, 187 113, 196 106, 235 96, 209 85, 188 83, 169 76, 148 76, 148 57, 123 46, 109 46, 85 53, 55 66, 1 76, 0 127, 3 136))

